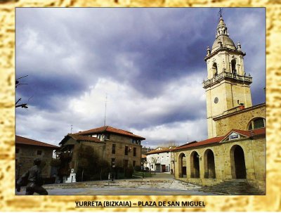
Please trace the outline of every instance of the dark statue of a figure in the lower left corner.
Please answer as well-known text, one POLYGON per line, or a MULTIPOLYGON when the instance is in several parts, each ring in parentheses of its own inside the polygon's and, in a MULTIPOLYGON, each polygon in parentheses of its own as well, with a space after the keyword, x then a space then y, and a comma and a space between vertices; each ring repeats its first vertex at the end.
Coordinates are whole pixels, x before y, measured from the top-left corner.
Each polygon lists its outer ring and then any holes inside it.
POLYGON ((34 166, 28 169, 16 183, 17 191, 20 191, 21 186, 26 186, 25 195, 33 195, 38 193, 39 195, 48 195, 45 188, 42 187, 43 179, 41 176, 41 160, 36 158, 34 160, 34 166))

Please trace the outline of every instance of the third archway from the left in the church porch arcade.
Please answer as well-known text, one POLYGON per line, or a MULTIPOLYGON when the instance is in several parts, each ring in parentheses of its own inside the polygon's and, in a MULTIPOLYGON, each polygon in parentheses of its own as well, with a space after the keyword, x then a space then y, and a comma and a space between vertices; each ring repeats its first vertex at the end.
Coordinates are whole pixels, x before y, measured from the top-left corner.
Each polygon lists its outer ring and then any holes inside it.
POLYGON ((215 157, 213 151, 210 149, 206 150, 204 153, 204 178, 216 178, 215 157))

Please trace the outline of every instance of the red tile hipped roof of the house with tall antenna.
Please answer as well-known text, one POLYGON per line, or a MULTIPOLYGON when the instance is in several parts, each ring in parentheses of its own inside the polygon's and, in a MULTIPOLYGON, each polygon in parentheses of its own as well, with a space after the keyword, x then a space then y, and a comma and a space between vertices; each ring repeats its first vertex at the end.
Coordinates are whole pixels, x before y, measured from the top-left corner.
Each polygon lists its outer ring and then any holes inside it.
POLYGON ((137 135, 131 133, 131 131, 126 131, 123 129, 116 129, 116 128, 110 127, 110 126, 98 127, 96 129, 89 129, 86 131, 79 131, 76 134, 89 135, 89 134, 98 134, 98 133, 103 133, 103 132, 110 132, 110 133, 115 133, 115 134, 119 134, 119 135, 131 136, 132 138, 139 138, 141 140, 145 140, 145 138, 143 138, 141 136, 137 136, 137 135))

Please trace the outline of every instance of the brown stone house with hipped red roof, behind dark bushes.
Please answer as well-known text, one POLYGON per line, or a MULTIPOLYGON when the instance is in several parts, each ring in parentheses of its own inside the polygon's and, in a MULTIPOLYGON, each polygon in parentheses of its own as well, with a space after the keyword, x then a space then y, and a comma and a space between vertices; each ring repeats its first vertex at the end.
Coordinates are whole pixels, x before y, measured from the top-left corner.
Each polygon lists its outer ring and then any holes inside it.
POLYGON ((99 127, 87 131, 79 131, 76 134, 67 134, 60 146, 60 152, 70 153, 72 160, 70 177, 66 181, 72 181, 79 165, 79 147, 91 146, 99 157, 111 165, 111 167, 141 167, 141 141, 145 138, 137 136, 130 131, 116 129, 114 127, 99 127))

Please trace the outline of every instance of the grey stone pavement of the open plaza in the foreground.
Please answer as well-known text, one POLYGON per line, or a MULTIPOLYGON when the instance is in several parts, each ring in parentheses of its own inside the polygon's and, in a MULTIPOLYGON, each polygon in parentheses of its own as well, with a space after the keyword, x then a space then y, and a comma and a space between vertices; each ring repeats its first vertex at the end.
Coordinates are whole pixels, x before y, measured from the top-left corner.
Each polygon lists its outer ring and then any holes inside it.
MULTIPOLYGON (((44 185, 49 195, 214 195, 200 191, 200 186, 158 173, 149 179, 124 179, 115 181, 87 181, 44 185)), ((25 195, 25 188, 16 195, 25 195)))

